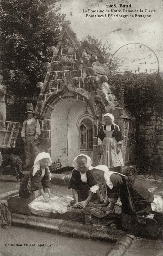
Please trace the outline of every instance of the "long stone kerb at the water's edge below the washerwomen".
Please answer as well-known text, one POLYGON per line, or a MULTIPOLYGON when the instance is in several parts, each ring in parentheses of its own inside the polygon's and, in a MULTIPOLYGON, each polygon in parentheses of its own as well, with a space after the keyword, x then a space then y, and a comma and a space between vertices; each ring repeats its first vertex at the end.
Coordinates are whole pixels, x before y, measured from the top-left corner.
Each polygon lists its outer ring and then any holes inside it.
POLYGON ((127 234, 125 231, 83 224, 72 220, 51 219, 34 215, 27 216, 18 213, 11 214, 11 223, 14 226, 39 229, 63 236, 98 239, 109 242, 115 242, 127 234))

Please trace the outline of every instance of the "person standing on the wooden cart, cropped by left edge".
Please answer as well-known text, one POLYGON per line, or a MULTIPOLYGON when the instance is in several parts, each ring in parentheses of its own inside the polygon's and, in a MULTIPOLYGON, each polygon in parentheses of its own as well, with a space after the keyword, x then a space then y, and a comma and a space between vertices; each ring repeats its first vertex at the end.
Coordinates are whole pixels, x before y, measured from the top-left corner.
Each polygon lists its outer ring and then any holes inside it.
POLYGON ((1 85, 1 91, 0 91, 0 120, 4 121, 1 123, 1 129, 5 129, 5 121, 6 121, 6 104, 5 104, 5 94, 6 94, 6 86, 2 85, 3 82, 3 76, 0 75, 0 85, 1 85))

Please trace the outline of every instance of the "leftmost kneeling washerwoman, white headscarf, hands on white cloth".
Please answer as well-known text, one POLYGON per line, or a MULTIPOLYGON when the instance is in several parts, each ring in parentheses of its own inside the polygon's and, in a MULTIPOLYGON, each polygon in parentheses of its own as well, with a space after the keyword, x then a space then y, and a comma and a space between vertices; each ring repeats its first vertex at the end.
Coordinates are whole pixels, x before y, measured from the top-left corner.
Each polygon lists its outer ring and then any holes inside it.
POLYGON ((42 152, 36 156, 31 172, 26 174, 20 184, 20 197, 30 198, 31 193, 34 190, 40 191, 45 202, 48 202, 48 197, 46 196, 45 192, 47 192, 50 197, 54 197, 50 193, 49 189, 51 173, 48 166, 51 164, 51 157, 48 153, 42 152))

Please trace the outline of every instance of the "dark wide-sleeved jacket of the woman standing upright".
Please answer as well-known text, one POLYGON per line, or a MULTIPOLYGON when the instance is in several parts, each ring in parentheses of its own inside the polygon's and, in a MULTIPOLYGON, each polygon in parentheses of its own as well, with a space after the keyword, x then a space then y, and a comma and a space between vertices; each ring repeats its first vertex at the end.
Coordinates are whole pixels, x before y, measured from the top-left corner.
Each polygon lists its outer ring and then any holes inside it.
MULTIPOLYGON (((97 135, 97 138, 100 138, 100 140, 102 140, 102 141, 103 141, 104 137, 106 137, 103 129, 106 131, 106 125, 102 125, 100 127, 99 133, 97 135)), ((115 137, 117 142, 120 141, 120 140, 123 140, 122 133, 118 130, 118 127, 117 127, 116 124, 111 125, 111 131, 114 131, 113 134, 112 134, 112 138, 115 137)))

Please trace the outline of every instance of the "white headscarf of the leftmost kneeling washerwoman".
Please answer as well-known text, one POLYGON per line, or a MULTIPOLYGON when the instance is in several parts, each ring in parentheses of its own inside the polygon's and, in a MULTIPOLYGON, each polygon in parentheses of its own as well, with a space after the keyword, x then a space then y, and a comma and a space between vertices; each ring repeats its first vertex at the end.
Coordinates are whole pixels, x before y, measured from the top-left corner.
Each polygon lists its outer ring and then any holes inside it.
MULTIPOLYGON (((49 159, 49 163, 48 163, 48 166, 50 166, 52 164, 52 160, 51 160, 51 157, 48 153, 46 152, 42 152, 42 153, 39 153, 36 158, 35 158, 35 161, 34 161, 34 165, 33 165, 33 173, 32 175, 34 176, 34 174, 40 170, 40 160, 41 159, 44 159, 44 158, 48 158, 49 159)), ((46 167, 48 169, 48 173, 49 173, 49 180, 51 180, 51 172, 49 170, 49 167, 46 167)))

